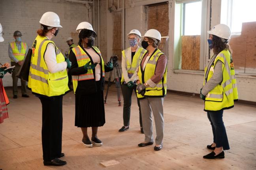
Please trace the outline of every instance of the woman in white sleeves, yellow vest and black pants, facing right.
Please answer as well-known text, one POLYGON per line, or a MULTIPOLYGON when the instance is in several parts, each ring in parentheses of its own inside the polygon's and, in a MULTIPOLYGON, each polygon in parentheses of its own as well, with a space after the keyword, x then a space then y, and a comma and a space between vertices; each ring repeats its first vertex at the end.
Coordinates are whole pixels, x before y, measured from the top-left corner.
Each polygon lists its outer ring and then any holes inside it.
POLYGON ((28 88, 42 104, 42 146, 43 164, 61 166, 66 164, 62 148, 62 96, 70 91, 66 68, 71 63, 51 39, 56 37, 62 26, 54 12, 46 12, 40 19, 41 29, 37 31, 32 46, 32 57, 28 77, 28 88))

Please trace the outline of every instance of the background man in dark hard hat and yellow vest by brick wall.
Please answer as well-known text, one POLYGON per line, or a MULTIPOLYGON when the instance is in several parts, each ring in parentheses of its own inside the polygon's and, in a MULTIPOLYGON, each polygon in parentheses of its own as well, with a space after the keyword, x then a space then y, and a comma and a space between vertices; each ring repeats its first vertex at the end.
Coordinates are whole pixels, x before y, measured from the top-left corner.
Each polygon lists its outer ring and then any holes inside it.
MULTIPOLYGON (((8 48, 8 54, 11 58, 11 66, 15 66, 13 69, 13 98, 17 98, 18 94, 18 79, 16 77, 16 74, 19 72, 19 69, 21 68, 21 65, 23 64, 24 58, 26 57, 26 54, 28 53, 28 46, 25 42, 21 41, 21 32, 15 31, 13 33, 13 37, 15 39, 14 42, 11 42, 9 44, 8 48)), ((26 94, 26 81, 21 80, 21 94, 22 97, 28 98, 29 96, 26 94)))

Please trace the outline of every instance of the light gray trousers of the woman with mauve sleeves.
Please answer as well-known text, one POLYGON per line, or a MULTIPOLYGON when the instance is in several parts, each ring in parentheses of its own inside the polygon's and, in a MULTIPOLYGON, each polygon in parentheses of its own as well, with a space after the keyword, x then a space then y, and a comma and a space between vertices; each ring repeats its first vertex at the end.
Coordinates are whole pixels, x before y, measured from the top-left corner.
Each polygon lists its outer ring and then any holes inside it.
POLYGON ((145 134, 145 142, 153 142, 153 126, 152 116, 156 124, 156 145, 163 142, 164 137, 164 98, 145 98, 139 100, 141 105, 141 117, 143 124, 143 131, 145 134))

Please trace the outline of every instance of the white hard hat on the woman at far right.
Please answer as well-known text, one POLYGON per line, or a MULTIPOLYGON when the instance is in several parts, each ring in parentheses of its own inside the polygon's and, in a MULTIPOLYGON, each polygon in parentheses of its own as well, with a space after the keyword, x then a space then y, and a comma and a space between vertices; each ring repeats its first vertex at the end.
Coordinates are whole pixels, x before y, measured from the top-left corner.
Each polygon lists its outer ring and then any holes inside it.
POLYGON ((214 26, 213 29, 211 29, 211 31, 207 31, 207 33, 228 40, 230 39, 231 35, 230 28, 225 24, 218 24, 214 26))

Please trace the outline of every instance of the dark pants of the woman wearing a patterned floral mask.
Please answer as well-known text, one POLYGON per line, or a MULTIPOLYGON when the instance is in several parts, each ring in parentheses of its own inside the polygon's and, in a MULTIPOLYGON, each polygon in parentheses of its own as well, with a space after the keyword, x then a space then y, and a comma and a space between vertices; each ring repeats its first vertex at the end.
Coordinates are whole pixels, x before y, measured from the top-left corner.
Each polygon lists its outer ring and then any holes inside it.
MULTIPOLYGON (((127 85, 122 83, 122 94, 124 97, 124 108, 123 108, 123 119, 124 119, 124 126, 130 125, 130 115, 131 115, 131 105, 132 105, 132 92, 135 92, 136 95, 136 85, 134 87, 129 88, 127 85)), ((142 127, 142 119, 141 119, 141 109, 139 104, 139 99, 137 98, 137 104, 139 106, 139 124, 142 127)))

